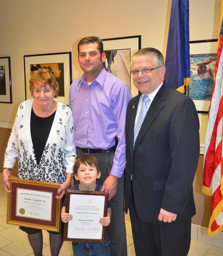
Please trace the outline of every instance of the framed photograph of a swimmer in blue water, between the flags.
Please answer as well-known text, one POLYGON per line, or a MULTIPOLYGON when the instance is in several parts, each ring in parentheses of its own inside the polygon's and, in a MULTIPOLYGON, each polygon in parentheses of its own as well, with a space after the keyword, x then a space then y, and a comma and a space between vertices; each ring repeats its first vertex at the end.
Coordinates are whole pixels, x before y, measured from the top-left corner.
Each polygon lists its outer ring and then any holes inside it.
POLYGON ((200 113, 208 113, 214 85, 217 39, 190 41, 191 86, 189 95, 200 113))

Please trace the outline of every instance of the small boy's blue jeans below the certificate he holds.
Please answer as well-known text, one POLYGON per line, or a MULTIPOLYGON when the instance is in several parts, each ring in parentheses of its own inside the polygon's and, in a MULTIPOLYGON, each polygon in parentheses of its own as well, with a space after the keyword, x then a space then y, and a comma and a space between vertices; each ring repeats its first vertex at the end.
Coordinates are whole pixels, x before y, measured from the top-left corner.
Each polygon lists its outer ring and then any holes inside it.
POLYGON ((110 240, 103 243, 72 242, 75 256, 110 256, 110 240))

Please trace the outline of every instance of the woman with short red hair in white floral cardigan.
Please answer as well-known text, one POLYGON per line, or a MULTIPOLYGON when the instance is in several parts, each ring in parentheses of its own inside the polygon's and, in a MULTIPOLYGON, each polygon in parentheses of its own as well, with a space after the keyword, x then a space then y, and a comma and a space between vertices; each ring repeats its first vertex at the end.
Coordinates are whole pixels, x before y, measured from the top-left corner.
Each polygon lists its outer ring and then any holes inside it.
MULTIPOLYGON (((58 91, 58 83, 51 72, 44 69, 32 72, 33 99, 19 106, 5 152, 3 183, 7 192, 10 192, 8 177, 17 159, 19 178, 61 183, 57 199, 69 188, 76 159, 72 138, 74 125, 71 110, 54 101, 58 91)), ((34 255, 42 255, 41 229, 20 229, 28 233, 34 255)), ((61 233, 48 232, 51 254, 59 255, 63 244, 61 233)))

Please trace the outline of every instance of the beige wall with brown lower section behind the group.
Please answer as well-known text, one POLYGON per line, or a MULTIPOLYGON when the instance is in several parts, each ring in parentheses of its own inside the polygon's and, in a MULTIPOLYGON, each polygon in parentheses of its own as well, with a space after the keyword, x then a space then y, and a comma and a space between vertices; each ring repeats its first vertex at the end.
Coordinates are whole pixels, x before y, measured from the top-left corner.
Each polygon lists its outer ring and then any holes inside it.
MULTIPOLYGON (((189 2, 190 40, 218 38, 221 0, 189 2)), ((141 35, 142 47, 156 47, 165 56, 171 0, 0 0, 0 6, 0 57, 11 57, 13 97, 13 104, 0 103, 0 127, 11 127, 18 105, 25 100, 24 55, 72 51, 73 80, 82 74, 77 64, 77 42, 87 35, 141 35)), ((199 118, 203 145, 207 115, 199 114, 199 118)), ((2 128, 0 132, 2 167, 9 130, 2 128)), ((202 156, 194 183, 199 215, 193 221, 207 226, 209 213, 203 213, 203 208, 209 209, 210 202, 201 194, 201 181, 202 156)))

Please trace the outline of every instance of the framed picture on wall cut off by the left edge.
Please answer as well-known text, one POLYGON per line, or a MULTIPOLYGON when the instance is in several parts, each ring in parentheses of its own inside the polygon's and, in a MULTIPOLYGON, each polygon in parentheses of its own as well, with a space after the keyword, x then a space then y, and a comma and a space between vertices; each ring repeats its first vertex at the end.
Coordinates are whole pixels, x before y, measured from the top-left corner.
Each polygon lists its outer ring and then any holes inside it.
POLYGON ((0 103, 13 103, 10 57, 0 57, 0 103))

